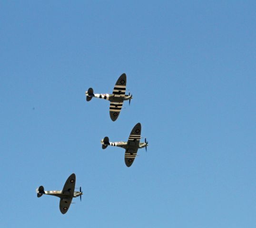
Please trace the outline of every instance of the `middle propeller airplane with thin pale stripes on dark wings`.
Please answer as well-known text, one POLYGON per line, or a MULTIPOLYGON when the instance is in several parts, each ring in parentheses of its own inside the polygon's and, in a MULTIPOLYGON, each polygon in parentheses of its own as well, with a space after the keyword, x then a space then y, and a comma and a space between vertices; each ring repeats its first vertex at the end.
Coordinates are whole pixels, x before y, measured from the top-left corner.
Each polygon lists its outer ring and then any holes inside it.
POLYGON ((148 142, 145 138, 145 142, 139 142, 141 137, 141 124, 137 123, 132 129, 128 142, 109 142, 108 137, 100 141, 102 144, 102 149, 106 149, 108 146, 118 146, 125 149, 125 164, 127 167, 130 167, 137 156, 137 151, 139 148, 145 147, 147 151, 148 142))

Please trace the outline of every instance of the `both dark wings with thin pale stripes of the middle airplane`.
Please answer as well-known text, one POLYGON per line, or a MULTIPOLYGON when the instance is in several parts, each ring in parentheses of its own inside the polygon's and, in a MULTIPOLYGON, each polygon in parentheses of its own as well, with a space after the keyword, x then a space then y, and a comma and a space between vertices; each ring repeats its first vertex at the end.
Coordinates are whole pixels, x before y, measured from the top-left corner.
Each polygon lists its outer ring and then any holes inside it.
POLYGON ((137 123, 132 129, 128 138, 128 147, 125 151, 125 164, 130 167, 137 156, 139 140, 140 140, 141 124, 137 123))

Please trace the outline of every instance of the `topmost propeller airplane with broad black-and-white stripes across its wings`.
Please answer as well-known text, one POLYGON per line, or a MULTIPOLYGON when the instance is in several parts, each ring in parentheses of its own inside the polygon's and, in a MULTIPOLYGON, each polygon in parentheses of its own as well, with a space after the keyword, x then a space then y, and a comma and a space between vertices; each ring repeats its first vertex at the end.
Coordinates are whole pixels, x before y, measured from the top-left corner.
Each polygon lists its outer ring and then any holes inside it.
POLYGON ((86 100, 90 101, 92 97, 101 98, 110 101, 109 114, 112 121, 116 121, 118 115, 122 109, 124 101, 129 100, 129 104, 132 99, 130 92, 128 95, 125 94, 126 91, 126 74, 122 74, 114 87, 113 94, 94 94, 93 89, 89 88, 85 92, 86 100))

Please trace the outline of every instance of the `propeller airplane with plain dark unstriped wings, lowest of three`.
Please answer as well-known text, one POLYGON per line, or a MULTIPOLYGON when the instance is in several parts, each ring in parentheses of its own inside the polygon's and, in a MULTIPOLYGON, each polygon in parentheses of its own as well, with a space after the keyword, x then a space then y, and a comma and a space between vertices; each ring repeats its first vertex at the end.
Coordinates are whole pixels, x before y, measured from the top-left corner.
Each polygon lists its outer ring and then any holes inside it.
POLYGON ((44 194, 59 197, 60 212, 62 214, 65 214, 68 211, 69 206, 74 197, 80 196, 80 200, 82 199, 81 196, 83 195, 83 192, 81 190, 81 187, 80 187, 80 191, 74 191, 75 184, 76 184, 76 175, 75 173, 72 173, 69 176, 69 178, 66 180, 66 183, 64 184, 64 187, 62 190, 45 191, 44 187, 40 186, 39 188, 36 189, 37 197, 41 197, 44 194))

